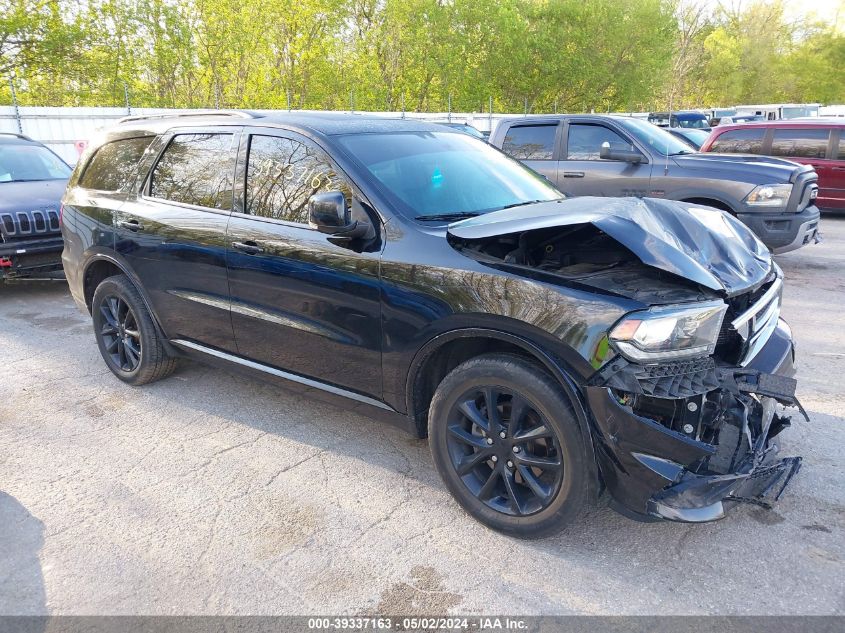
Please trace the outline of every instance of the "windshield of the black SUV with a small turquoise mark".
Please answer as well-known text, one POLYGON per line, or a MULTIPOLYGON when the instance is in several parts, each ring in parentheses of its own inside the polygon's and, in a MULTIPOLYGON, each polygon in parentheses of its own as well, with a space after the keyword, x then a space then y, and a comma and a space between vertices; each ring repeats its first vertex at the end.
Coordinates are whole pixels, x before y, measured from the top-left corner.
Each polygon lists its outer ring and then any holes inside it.
POLYGON ((467 134, 355 134, 338 140, 406 215, 419 220, 458 219, 563 197, 541 176, 467 134))

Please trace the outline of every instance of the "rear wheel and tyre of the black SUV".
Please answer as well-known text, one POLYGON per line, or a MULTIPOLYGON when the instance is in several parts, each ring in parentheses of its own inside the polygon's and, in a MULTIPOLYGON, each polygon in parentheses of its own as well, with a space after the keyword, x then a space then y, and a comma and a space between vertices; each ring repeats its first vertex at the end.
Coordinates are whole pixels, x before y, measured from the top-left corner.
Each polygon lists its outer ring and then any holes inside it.
POLYGON ((130 385, 145 385, 173 373, 167 354, 138 290, 125 275, 103 280, 91 302, 94 334, 111 372, 130 385))

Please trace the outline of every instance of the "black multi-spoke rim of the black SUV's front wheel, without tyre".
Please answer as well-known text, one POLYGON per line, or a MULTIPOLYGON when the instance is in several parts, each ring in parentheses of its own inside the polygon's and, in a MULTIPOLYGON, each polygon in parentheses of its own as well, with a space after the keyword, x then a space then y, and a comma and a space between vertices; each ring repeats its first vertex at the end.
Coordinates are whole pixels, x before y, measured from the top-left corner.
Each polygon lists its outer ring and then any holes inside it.
POLYGON ((497 512, 540 512, 563 481, 560 440, 512 389, 485 386, 458 398, 449 412, 447 445, 461 481, 497 512))

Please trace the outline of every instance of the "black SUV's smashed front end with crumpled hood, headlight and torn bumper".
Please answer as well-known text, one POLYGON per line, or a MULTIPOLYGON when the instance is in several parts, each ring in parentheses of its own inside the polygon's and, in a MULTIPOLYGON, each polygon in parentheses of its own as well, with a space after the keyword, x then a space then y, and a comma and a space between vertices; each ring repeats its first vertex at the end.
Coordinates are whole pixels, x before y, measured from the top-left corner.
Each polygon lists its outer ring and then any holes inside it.
MULTIPOLYGON (((783 277, 728 214, 652 199, 578 198, 449 227, 508 273, 633 301, 586 360, 602 480, 623 513, 712 521, 770 507, 801 465, 778 436, 798 407, 783 277)), ((805 414, 806 417, 806 414, 805 414)))

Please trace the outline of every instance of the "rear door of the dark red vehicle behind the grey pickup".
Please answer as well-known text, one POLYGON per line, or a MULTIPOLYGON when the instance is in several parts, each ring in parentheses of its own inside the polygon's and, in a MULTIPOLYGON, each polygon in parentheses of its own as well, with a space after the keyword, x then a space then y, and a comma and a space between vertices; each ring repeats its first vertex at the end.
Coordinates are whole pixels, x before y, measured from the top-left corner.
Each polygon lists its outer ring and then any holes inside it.
MULTIPOLYGON (((819 195, 816 204, 822 209, 841 209, 845 206, 845 187, 842 163, 836 160, 838 138, 831 138, 828 127, 775 128, 769 153, 811 165, 819 175, 819 195)), ((838 132, 838 130, 837 130, 838 132)))

